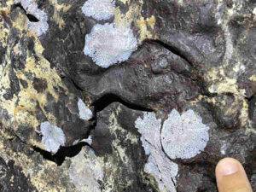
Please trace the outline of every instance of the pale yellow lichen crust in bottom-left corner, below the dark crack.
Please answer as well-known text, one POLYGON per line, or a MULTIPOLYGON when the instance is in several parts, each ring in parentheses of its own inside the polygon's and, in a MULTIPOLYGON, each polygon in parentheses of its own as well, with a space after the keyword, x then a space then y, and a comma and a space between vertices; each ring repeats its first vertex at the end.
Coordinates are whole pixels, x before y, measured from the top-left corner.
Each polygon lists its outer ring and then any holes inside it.
MULTIPOLYGON (((41 154, 26 154, 24 151, 15 151, 10 148, 9 143, 13 136, 7 131, 0 131, 0 156, 8 162, 14 160, 15 166, 19 166, 24 175, 29 178, 32 185, 39 191, 49 192, 75 192, 68 178, 68 163, 57 166, 54 162, 44 160, 41 154)), ((23 145, 23 144, 22 144, 23 145)))

